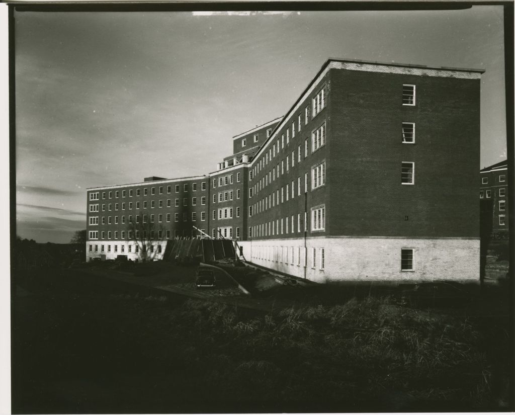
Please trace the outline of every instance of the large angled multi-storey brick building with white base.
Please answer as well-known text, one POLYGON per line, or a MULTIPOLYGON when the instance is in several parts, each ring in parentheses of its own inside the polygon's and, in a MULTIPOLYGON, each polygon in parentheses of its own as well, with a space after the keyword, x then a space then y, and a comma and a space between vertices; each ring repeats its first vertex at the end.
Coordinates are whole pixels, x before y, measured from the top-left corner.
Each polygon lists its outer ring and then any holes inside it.
POLYGON ((89 188, 88 259, 137 258, 138 220, 159 224, 156 258, 194 225, 318 282, 478 280, 483 72, 329 59, 216 171, 89 188))

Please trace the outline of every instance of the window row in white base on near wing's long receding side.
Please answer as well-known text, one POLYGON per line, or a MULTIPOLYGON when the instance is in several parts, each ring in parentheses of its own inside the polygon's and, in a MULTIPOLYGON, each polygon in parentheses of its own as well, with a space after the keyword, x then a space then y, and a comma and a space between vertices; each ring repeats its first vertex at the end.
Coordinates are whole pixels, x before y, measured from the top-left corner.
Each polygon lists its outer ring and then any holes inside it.
MULTIPOLYGON (((325 249, 310 248, 311 268, 325 269, 325 249)), ((279 264, 307 267, 307 249, 304 247, 267 246, 253 249, 252 258, 279 264)))

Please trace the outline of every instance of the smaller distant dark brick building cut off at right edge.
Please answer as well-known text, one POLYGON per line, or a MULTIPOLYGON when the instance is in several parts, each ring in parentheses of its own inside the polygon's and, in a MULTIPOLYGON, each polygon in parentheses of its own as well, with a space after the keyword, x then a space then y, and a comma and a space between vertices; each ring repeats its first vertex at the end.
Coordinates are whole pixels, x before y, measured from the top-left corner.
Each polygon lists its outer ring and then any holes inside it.
POLYGON ((494 238, 508 238, 508 162, 479 170, 481 223, 494 238))

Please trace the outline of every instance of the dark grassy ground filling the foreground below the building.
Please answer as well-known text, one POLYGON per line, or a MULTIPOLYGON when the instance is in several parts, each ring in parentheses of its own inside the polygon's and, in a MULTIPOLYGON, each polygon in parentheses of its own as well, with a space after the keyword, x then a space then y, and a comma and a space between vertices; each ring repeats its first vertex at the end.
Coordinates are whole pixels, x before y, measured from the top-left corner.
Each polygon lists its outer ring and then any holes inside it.
POLYGON ((13 413, 513 409, 502 285, 431 308, 280 287, 264 311, 80 269, 16 282, 13 413))

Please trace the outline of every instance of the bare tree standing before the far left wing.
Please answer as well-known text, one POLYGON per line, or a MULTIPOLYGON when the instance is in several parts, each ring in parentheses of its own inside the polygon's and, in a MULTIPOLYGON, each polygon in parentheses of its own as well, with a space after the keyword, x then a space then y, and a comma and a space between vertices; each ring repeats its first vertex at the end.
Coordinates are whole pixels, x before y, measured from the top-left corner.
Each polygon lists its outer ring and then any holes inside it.
POLYGON ((159 253, 160 241, 164 239, 163 225, 151 221, 151 217, 140 211, 127 226, 128 237, 134 241, 141 261, 152 261, 159 253))

